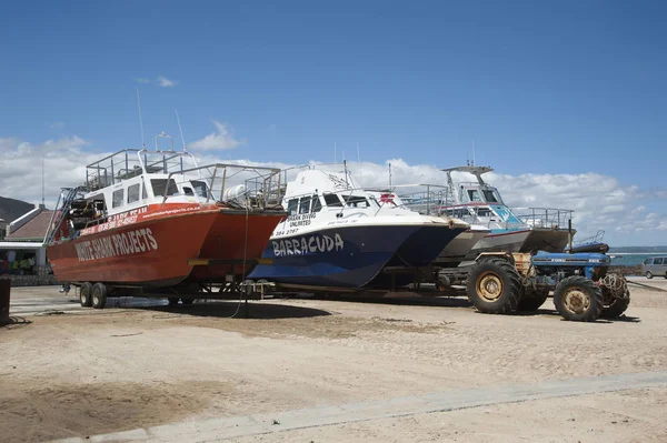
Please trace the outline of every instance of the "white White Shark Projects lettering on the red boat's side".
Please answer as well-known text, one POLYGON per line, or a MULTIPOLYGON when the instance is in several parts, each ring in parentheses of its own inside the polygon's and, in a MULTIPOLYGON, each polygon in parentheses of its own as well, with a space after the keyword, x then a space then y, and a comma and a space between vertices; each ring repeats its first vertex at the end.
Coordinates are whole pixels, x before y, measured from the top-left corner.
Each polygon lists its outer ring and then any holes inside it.
POLYGON ((138 229, 74 244, 80 262, 156 251, 158 242, 150 228, 138 229))

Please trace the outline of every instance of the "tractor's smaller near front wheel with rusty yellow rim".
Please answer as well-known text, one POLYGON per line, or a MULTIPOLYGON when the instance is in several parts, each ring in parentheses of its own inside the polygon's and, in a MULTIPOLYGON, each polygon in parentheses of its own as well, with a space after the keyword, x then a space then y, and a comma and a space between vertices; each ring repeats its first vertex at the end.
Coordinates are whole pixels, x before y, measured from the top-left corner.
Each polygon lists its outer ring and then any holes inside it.
POLYGON ((605 305, 603 291, 581 275, 564 279, 554 291, 554 304, 565 320, 594 322, 605 305))

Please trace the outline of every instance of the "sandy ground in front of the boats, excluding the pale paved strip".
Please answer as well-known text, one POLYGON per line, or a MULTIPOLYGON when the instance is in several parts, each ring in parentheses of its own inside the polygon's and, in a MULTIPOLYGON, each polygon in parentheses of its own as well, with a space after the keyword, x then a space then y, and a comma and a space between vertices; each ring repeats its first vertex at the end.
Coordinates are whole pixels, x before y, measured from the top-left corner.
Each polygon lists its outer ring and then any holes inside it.
MULTIPOLYGON (((461 299, 265 300, 228 319, 235 302, 32 315, 40 300, 62 301, 57 288, 12 298, 23 308, 0 329, 0 441, 667 370, 667 292, 647 289, 633 289, 626 316, 596 323, 561 321, 550 300, 511 316, 478 314, 461 299)), ((667 442, 665 416, 667 386, 236 441, 667 442)))

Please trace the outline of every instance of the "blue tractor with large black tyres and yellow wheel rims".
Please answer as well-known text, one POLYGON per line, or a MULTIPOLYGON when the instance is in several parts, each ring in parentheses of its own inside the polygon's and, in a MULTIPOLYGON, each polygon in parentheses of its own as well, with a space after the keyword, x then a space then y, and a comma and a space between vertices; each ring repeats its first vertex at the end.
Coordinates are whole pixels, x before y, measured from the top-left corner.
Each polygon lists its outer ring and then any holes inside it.
POLYGON ((610 263, 604 253, 482 253, 468 273, 467 294, 479 312, 508 314, 537 310, 554 291, 566 320, 617 318, 630 293, 623 275, 607 272, 610 263))

